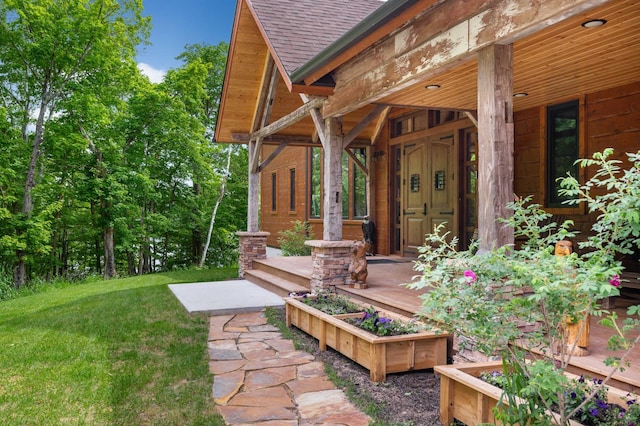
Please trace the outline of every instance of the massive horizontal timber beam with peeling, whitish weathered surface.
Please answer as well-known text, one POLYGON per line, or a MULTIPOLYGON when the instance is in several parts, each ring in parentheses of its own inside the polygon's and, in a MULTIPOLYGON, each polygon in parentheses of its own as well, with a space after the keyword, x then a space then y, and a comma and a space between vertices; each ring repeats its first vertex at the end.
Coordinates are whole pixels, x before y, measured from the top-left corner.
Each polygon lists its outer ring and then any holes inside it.
POLYGON ((322 115, 344 116, 607 0, 451 0, 427 9, 334 74, 322 115))

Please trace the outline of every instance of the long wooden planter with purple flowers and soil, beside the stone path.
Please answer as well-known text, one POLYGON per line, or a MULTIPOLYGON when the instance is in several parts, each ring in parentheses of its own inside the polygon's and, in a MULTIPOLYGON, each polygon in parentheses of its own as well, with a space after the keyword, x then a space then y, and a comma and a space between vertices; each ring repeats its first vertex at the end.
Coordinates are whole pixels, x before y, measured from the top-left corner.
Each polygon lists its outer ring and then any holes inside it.
POLYGON ((387 373, 447 362, 447 333, 427 330, 425 324, 359 305, 345 296, 289 297, 285 309, 287 326, 318 339, 320 350, 331 347, 367 368, 375 382, 384 381, 387 373))

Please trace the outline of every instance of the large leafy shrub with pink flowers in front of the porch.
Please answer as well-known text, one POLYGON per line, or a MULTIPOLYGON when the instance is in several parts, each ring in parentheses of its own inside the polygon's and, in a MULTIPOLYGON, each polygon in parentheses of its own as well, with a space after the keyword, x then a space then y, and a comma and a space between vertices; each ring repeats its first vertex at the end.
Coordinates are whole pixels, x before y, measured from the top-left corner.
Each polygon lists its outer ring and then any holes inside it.
POLYGON ((601 300, 619 294, 618 255, 640 247, 640 152, 628 154, 633 167, 625 171, 609 159, 611 153, 581 161, 582 167, 598 169, 587 183, 572 177, 562 182, 572 203, 587 203, 598 214, 592 234, 579 244, 580 255, 554 254, 558 241, 575 236, 572 223, 553 222, 530 197, 510 203, 513 215, 503 220, 524 240, 519 247, 458 251, 456 239, 443 235, 441 226, 420 250, 416 268, 422 277, 411 287, 428 289, 421 314, 471 339, 484 354, 501 358, 505 375, 512 378, 501 391, 503 401, 511 403, 496 411, 504 424, 565 425, 596 397, 597 387, 580 405, 569 403, 569 379, 563 373, 577 341, 568 345, 567 323, 602 316, 613 330, 609 347, 625 350, 607 359, 613 369, 602 385, 628 365, 638 342, 628 332, 640 329, 639 306, 628 309, 630 318, 623 324, 615 312, 600 307, 601 300), (551 411, 557 415, 540 414, 551 411))

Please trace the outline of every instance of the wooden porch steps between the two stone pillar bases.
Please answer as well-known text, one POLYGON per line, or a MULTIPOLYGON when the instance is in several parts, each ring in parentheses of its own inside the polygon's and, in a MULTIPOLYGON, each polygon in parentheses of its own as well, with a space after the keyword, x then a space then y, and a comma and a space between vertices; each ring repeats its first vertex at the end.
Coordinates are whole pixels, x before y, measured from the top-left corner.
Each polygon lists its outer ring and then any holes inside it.
POLYGON ((245 279, 278 296, 286 297, 292 292, 308 292, 311 289, 309 276, 297 268, 282 268, 270 259, 255 260, 253 268, 245 271, 245 279))

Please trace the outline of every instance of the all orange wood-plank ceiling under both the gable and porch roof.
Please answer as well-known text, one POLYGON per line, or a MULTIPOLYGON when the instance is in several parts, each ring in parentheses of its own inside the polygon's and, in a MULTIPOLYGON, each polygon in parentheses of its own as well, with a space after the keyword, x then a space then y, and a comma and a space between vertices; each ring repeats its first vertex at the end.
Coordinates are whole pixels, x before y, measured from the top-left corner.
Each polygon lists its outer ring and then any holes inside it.
MULTIPOLYGON (((260 94, 268 48, 246 6, 236 16, 235 41, 218 119, 216 140, 234 142, 232 133, 251 132, 260 94)), ((640 6, 637 0, 615 0, 534 33, 514 43, 514 109, 524 110, 575 98, 582 94, 640 81, 640 6), (590 19, 605 19, 597 28, 584 28, 590 19)), ((442 108, 475 111, 477 108, 477 63, 469 60, 450 70, 394 93, 378 103, 394 107, 442 108), (440 89, 427 90, 427 84, 440 89)), ((271 120, 302 105, 282 78, 273 104, 271 120)), ((344 117, 347 133, 373 107, 344 117)), ((370 138, 375 122, 359 138, 370 138)), ((314 134, 306 118, 278 135, 314 134)), ((237 140, 235 141, 237 142, 237 140)))

